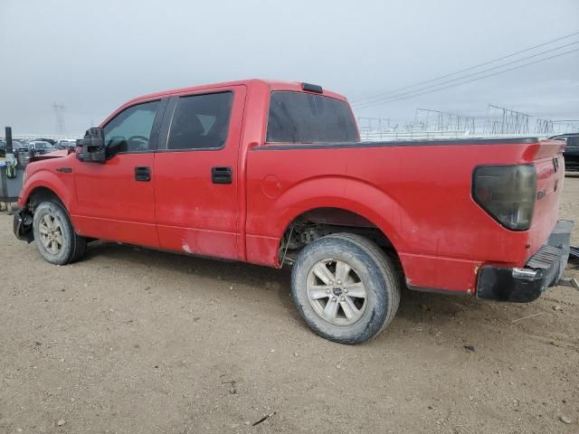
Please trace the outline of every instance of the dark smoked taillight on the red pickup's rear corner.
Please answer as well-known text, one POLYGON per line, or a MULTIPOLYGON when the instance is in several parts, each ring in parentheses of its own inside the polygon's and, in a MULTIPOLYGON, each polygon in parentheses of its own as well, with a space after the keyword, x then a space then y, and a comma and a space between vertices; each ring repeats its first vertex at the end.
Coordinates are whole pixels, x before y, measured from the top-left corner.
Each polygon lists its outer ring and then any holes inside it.
POLYGON ((506 228, 527 231, 535 207, 535 165, 480 165, 472 176, 472 197, 506 228))

